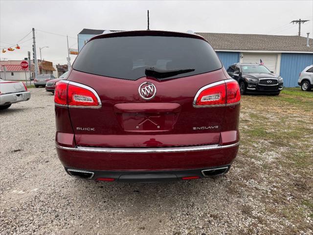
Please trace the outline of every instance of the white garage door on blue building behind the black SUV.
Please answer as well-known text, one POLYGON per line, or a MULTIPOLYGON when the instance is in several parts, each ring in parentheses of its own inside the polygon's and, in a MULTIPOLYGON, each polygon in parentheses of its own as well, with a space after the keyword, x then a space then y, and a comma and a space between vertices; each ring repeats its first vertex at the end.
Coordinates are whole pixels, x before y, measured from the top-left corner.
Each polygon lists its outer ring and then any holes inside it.
POLYGON ((260 59, 270 71, 276 71, 277 54, 244 53, 243 63, 260 63, 260 59))

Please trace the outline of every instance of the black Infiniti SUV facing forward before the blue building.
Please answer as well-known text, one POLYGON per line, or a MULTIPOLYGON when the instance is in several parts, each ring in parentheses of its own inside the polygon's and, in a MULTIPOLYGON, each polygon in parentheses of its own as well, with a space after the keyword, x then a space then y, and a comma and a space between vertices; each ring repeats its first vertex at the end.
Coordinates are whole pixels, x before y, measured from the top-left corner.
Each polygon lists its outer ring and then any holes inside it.
POLYGON ((240 94, 279 95, 283 90, 283 78, 261 64, 236 63, 228 67, 227 73, 238 81, 240 94))

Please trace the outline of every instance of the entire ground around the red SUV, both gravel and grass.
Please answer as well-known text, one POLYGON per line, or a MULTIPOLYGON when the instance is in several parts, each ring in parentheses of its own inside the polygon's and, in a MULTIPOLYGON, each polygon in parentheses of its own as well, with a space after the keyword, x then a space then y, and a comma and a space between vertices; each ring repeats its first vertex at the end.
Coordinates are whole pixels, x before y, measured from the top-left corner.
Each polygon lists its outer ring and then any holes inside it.
MULTIPOLYGON (((66 174, 54 146, 53 95, 29 90, 29 101, 0 112, 1 235, 313 234, 313 109, 306 101, 243 96, 242 144, 223 177, 112 184, 66 174)), ((313 103, 309 95, 303 100, 313 103)))

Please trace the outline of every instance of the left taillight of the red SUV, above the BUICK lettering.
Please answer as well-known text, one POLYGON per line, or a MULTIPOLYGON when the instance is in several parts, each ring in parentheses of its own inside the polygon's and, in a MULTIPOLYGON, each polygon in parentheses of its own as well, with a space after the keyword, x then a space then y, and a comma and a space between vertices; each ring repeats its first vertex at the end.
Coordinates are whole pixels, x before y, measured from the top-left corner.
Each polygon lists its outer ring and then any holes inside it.
POLYGON ((54 92, 54 102, 58 105, 73 107, 98 108, 101 106, 97 93, 90 87, 76 82, 57 82, 54 92))

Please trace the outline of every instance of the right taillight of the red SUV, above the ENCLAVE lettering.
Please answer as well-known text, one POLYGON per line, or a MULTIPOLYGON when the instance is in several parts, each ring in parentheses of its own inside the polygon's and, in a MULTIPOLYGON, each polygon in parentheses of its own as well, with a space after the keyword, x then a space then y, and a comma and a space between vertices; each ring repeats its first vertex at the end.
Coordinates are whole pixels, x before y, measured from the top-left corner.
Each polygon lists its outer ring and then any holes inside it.
POLYGON ((229 79, 201 88, 194 99, 194 107, 226 106, 239 101, 238 82, 229 79))

